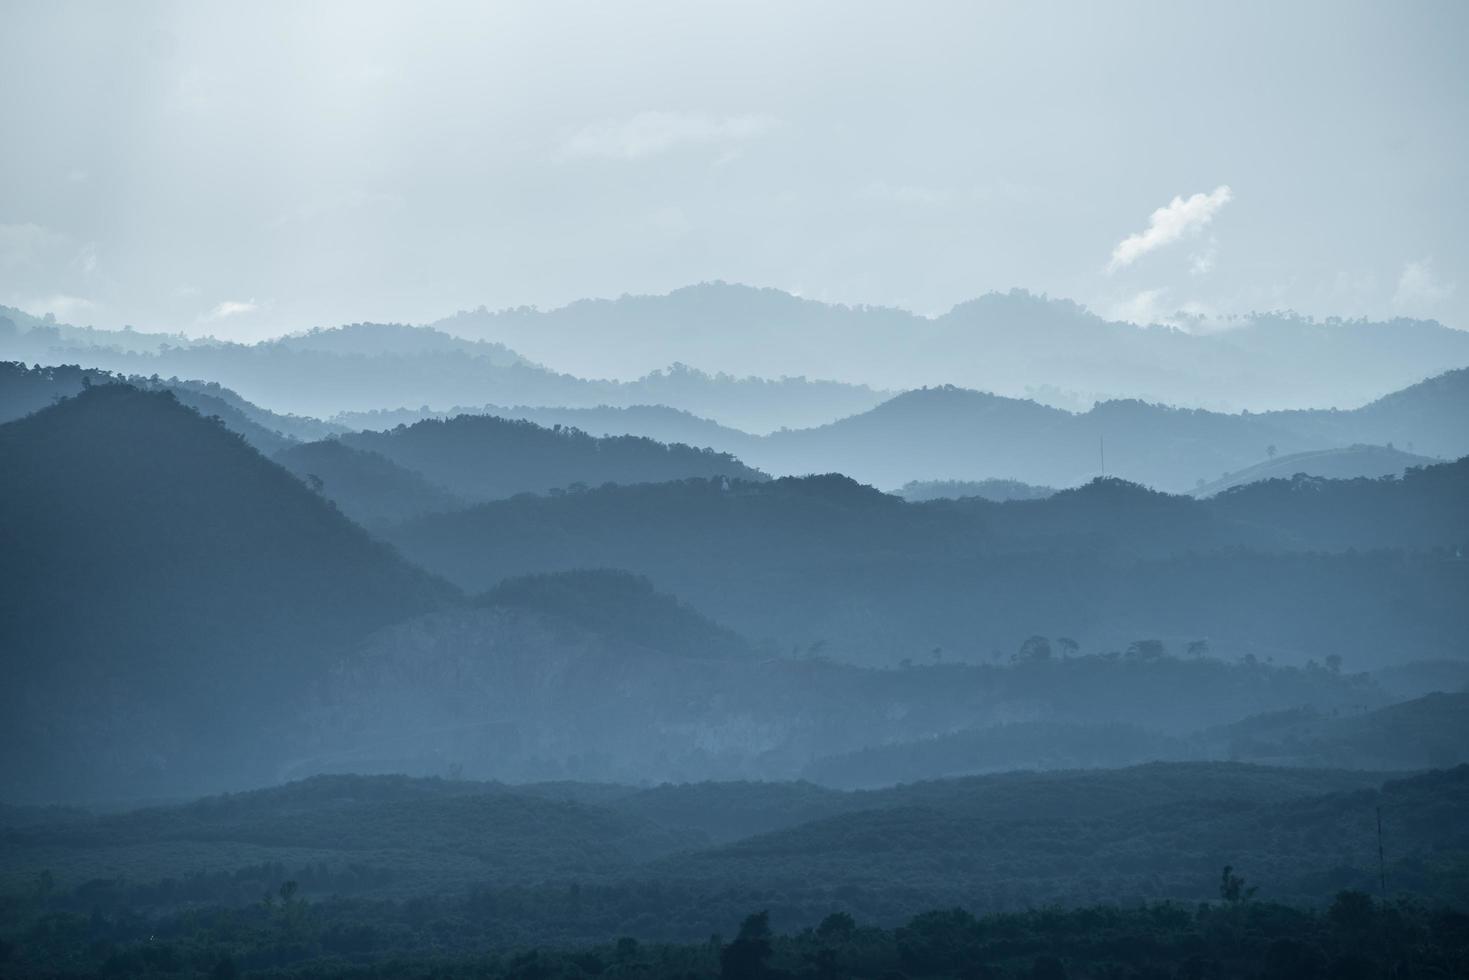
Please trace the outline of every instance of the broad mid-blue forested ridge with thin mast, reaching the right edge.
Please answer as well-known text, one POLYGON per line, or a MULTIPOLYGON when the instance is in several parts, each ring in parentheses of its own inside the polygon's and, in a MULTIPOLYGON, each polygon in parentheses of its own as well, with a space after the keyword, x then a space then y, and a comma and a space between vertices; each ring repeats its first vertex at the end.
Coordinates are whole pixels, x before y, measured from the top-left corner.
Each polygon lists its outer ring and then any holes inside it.
POLYGON ((840 476, 685 480, 498 501, 388 533, 467 589, 627 569, 746 636, 867 661, 1008 654, 1046 633, 1366 664, 1447 655, 1469 627, 1454 598, 1469 588, 1454 558, 1466 480, 1459 461, 1208 501, 1100 480, 1002 504, 906 504, 840 476))

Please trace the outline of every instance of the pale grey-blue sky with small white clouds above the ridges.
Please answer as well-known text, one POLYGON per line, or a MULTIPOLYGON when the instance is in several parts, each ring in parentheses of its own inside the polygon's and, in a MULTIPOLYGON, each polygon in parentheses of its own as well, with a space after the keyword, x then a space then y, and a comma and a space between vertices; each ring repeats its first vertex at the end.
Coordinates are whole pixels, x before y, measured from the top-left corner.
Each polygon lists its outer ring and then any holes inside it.
POLYGON ((1469 4, 0 6, 0 303, 231 339, 724 279, 1469 329, 1469 4))

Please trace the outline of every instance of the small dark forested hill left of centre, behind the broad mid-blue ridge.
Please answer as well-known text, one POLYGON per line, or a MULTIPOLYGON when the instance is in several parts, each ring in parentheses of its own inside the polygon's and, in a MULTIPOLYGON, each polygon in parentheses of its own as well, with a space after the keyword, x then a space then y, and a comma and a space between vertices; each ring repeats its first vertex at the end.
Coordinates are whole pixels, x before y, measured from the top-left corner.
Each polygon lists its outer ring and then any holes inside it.
POLYGON ((598 438, 577 429, 546 429, 494 416, 425 419, 341 439, 480 501, 573 485, 657 483, 695 476, 764 479, 758 470, 712 450, 639 436, 598 438))

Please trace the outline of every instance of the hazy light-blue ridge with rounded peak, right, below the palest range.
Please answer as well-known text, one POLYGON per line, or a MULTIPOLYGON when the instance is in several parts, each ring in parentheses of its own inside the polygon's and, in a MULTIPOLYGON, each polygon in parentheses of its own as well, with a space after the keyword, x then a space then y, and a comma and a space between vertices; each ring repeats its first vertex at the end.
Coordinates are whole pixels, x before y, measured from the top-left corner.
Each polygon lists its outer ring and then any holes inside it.
MULTIPOLYGON (((1272 450, 1288 457, 1372 442, 1407 447, 1421 461, 1429 454, 1469 454, 1469 370, 1429 378, 1349 411, 1225 414, 1127 400, 1072 413, 965 388, 920 388, 823 426, 765 436, 661 406, 454 411, 573 425, 596 435, 682 441, 730 453, 777 476, 840 472, 892 489, 920 479, 1075 486, 1105 473, 1194 492, 1238 482, 1231 475, 1268 463, 1272 450)), ((450 414, 405 410, 338 422, 380 428, 450 414)), ((1260 473, 1269 475, 1269 467, 1260 473)))

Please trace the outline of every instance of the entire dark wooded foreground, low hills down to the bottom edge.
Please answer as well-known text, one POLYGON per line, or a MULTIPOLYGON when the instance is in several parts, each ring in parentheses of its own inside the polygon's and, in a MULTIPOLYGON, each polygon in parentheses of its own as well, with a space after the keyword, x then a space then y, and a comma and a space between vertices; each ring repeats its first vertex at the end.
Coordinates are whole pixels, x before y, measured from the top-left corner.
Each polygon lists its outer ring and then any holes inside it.
POLYGON ((10 976, 1454 976, 1466 786, 1465 767, 878 793, 336 777, 0 811, 0 952, 10 976))

